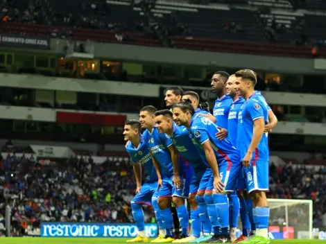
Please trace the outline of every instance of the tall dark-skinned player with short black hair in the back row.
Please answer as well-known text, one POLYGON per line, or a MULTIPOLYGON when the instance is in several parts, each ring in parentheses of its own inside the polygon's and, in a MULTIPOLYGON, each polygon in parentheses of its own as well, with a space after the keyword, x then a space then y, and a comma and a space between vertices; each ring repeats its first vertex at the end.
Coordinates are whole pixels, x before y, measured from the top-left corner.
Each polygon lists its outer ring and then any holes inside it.
MULTIPOLYGON (((226 137, 228 134, 228 116, 233 100, 226 94, 225 83, 229 79, 229 74, 225 71, 218 71, 212 76, 211 92, 217 95, 215 101, 213 115, 216 117, 216 125, 218 126, 218 137, 226 137)), ((235 146, 235 143, 233 144, 235 146)), ((239 198, 237 191, 234 189, 228 193, 229 206, 230 206, 230 235, 232 240, 236 239, 236 231, 239 216, 239 198)))

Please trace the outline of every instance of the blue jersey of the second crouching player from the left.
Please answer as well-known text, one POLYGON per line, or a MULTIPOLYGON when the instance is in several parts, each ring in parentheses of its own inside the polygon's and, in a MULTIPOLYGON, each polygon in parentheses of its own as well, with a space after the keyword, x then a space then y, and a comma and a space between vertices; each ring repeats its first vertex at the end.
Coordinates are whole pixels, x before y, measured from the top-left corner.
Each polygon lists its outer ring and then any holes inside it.
POLYGON ((173 176, 173 164, 169 146, 173 145, 171 138, 167 134, 160 134, 157 128, 153 128, 152 133, 145 130, 144 143, 148 146, 161 167, 162 178, 173 176))

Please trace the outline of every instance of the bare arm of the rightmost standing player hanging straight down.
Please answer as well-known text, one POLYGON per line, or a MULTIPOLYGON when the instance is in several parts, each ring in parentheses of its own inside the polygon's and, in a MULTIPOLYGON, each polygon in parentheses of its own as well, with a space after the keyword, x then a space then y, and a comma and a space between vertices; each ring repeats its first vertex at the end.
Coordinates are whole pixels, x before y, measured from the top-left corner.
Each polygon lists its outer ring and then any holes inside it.
POLYGON ((252 159, 252 152, 257 148, 259 141, 261 140, 261 137, 264 134, 265 130, 265 121, 264 118, 258 118, 253 121, 254 123, 254 132, 252 134, 252 139, 249 145, 249 148, 247 150, 247 153, 245 157, 242 159, 242 164, 245 167, 250 166, 250 161, 252 159))

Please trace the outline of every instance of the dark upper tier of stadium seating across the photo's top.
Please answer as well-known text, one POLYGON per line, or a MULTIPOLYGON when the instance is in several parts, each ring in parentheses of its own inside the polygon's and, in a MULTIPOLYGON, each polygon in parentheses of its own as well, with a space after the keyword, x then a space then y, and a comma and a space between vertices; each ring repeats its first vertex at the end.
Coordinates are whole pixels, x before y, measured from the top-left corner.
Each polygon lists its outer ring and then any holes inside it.
MULTIPOLYGON (((75 40, 91 39, 143 46, 171 44, 180 49, 264 53, 298 58, 312 58, 311 47, 325 46, 326 37, 320 24, 325 21, 325 16, 292 10, 291 5, 289 14, 289 4, 280 2, 280 6, 276 3, 276 6, 274 3, 269 6, 267 3, 255 1, 253 4, 248 1, 247 8, 243 9, 230 8, 225 4, 202 6, 165 1, 156 1, 155 4, 141 1, 140 7, 129 1, 107 1, 101 6, 96 1, 85 4, 78 1, 46 1, 43 3, 45 6, 42 3, 29 6, 37 9, 33 15, 26 15, 33 9, 28 10, 26 4, 19 4, 16 8, 10 2, 5 7, 7 11, 1 14, 8 20, 1 22, 0 29, 5 33, 69 37, 75 40), (252 8, 252 4, 255 8, 252 8), (65 6, 65 11, 59 11, 60 6, 65 6), (146 10, 150 7, 153 8, 146 10), (275 7, 277 9, 273 10, 275 7), (15 9, 27 11, 22 16, 16 14, 15 9), (170 35, 170 39, 166 35, 170 35)), ((318 55, 323 57, 325 51, 320 49, 318 55)))

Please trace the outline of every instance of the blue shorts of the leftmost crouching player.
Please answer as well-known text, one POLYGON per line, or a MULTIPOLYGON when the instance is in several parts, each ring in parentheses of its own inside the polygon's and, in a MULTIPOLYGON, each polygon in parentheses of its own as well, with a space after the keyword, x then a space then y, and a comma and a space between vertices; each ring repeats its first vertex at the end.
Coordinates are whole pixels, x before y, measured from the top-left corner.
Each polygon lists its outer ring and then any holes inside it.
POLYGON ((140 193, 135 195, 131 203, 151 205, 154 199, 157 199, 157 182, 144 183, 141 186, 140 193))

